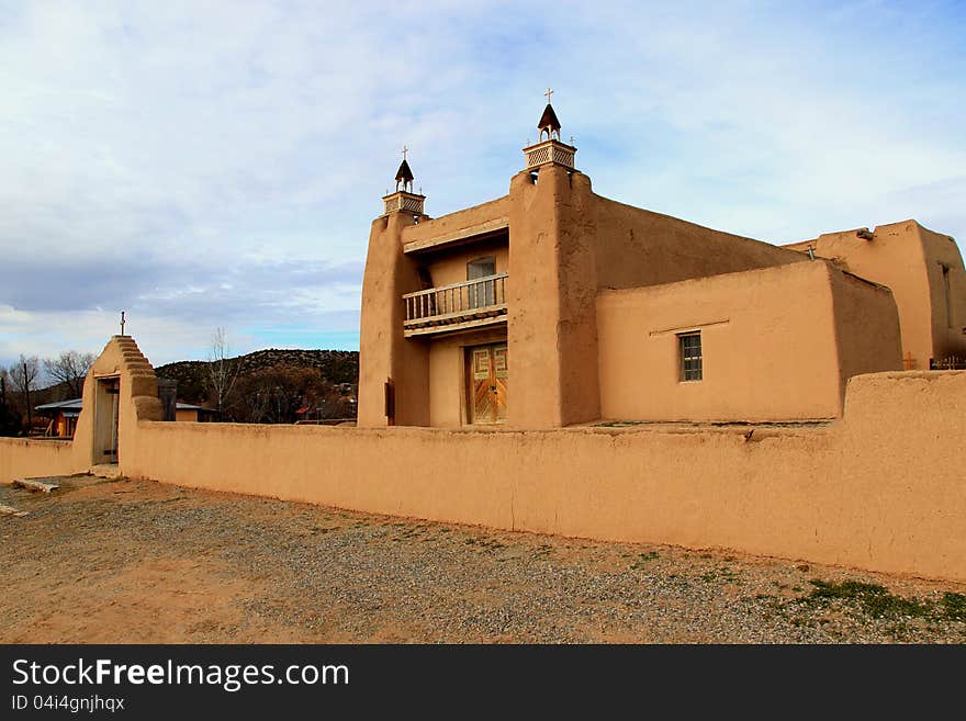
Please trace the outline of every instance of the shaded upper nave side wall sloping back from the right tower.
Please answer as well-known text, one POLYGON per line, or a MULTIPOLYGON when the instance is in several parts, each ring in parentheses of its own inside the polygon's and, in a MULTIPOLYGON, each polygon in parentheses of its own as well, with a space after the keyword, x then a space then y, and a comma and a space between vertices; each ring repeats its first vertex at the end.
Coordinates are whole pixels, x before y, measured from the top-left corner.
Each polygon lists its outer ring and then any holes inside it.
POLYGON ((597 284, 639 288, 798 262, 767 243, 594 196, 597 284))

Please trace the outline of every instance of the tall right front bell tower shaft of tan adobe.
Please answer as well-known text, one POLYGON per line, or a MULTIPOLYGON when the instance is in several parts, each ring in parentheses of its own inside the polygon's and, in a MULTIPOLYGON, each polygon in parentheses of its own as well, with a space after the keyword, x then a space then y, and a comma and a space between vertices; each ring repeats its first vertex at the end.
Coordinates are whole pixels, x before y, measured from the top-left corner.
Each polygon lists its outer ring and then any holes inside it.
POLYGON ((600 417, 596 204, 591 179, 555 165, 510 181, 507 423, 552 428, 600 417))

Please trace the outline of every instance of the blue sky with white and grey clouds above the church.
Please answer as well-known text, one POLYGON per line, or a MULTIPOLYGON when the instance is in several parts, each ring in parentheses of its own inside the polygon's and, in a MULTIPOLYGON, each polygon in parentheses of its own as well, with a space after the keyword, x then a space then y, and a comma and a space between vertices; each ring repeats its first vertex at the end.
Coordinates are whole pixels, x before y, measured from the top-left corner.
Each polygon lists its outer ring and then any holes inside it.
POLYGON ((770 243, 966 238, 964 2, 0 0, 0 364, 358 348, 403 144, 507 192, 544 88, 596 192, 770 243))

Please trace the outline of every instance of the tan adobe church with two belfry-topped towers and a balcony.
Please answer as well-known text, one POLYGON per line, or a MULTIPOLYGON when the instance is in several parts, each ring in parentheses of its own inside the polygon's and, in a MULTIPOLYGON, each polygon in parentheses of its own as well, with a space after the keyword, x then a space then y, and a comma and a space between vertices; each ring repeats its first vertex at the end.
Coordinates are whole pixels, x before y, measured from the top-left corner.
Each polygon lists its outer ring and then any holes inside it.
POLYGON ((712 230, 595 194, 549 103, 538 129, 507 195, 438 218, 404 157, 369 238, 360 426, 830 419, 853 375, 966 356, 952 237, 712 230))

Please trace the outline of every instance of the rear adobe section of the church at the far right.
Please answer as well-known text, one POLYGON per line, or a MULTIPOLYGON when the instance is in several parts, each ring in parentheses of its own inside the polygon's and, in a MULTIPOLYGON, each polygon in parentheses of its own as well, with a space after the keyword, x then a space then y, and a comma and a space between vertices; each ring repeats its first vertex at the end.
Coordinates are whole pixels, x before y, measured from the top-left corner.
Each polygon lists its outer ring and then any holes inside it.
POLYGON ((876 227, 872 240, 858 237, 853 229, 785 247, 806 251, 809 246, 843 269, 891 289, 899 308, 902 353, 911 353, 913 369, 929 369, 930 358, 966 354, 962 327, 966 325, 966 274, 952 238, 916 221, 903 221, 876 227), (951 268, 952 327, 941 262, 951 268))

